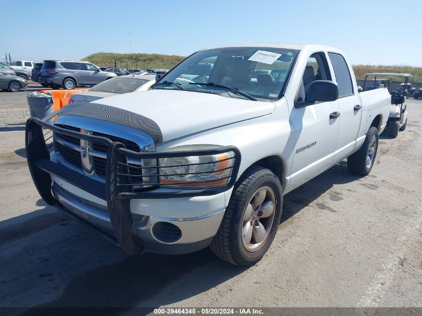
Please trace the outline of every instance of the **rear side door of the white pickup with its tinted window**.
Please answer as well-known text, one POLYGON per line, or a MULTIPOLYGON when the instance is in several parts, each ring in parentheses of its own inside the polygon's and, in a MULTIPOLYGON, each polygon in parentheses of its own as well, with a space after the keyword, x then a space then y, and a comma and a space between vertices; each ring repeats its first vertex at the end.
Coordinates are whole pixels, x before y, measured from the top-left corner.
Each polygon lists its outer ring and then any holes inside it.
MULTIPOLYGON (((358 136, 362 117, 362 106, 358 91, 355 91, 353 70, 345 58, 335 52, 329 52, 334 70, 334 80, 339 86, 340 130, 336 145, 336 155, 342 156, 353 150, 358 136)), ((337 157, 336 157, 337 158, 337 157)))

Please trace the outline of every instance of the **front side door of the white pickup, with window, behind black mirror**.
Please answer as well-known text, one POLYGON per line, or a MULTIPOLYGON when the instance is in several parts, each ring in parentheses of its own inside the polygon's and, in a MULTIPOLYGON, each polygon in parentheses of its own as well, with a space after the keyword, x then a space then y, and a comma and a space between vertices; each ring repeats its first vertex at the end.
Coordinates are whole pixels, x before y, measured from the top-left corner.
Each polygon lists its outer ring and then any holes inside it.
MULTIPOLYGON (((331 80, 326 54, 312 54, 306 65, 295 101, 303 101, 315 80, 331 80)), ((317 102, 302 108, 293 107, 290 121, 295 129, 295 147, 289 191, 297 188, 330 167, 339 133, 339 102, 317 102), (330 117, 331 116, 331 117, 330 117)))

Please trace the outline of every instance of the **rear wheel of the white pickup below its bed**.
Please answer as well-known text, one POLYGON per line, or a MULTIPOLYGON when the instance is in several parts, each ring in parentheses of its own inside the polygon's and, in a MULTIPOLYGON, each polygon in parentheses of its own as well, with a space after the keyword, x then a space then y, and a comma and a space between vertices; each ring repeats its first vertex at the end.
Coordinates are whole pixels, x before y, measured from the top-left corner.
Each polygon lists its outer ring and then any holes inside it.
POLYGON ((362 147, 347 158, 347 169, 350 173, 367 176, 374 166, 378 151, 378 128, 371 127, 362 147))

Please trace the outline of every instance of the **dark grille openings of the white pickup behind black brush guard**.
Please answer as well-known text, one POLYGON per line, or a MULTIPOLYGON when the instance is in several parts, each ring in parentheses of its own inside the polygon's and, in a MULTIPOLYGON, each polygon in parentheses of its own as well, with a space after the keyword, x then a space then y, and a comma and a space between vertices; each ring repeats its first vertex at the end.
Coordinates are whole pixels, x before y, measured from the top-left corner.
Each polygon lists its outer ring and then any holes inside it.
MULTIPOLYGON (((68 125, 61 125, 61 124, 56 124, 56 126, 61 127, 61 128, 65 128, 65 129, 69 129, 72 131, 76 131, 76 132, 80 132, 80 129, 77 127, 73 127, 73 126, 68 126, 68 125)), ((111 135, 107 135, 107 134, 102 134, 102 133, 98 133, 98 132, 92 132, 92 135, 94 136, 101 136, 101 137, 106 137, 108 139, 110 139, 111 141, 118 141, 121 142, 122 144, 125 145, 126 149, 132 150, 132 151, 136 151, 136 152, 140 152, 140 148, 139 146, 127 139, 122 139, 116 136, 111 136, 111 135)), ((79 147, 80 145, 80 140, 79 138, 76 137, 71 137, 71 136, 67 136, 67 135, 56 135, 57 137, 66 140, 76 146, 79 147)), ((82 169, 82 162, 81 162, 81 158, 80 158, 80 151, 79 150, 74 150, 72 148, 69 148, 65 145, 60 144, 59 142, 55 141, 54 143, 55 145, 55 150, 58 151, 62 157, 69 163, 71 163, 74 166, 77 166, 79 168, 82 169)), ((102 154, 104 154, 104 156, 107 153, 107 146, 100 144, 100 143, 93 143, 92 144, 92 149, 98 152, 101 152, 102 154)), ((93 157, 93 161, 94 161, 94 170, 95 173, 101 177, 105 177, 105 162, 106 160, 104 158, 101 157, 93 157)), ((130 180, 132 182, 132 184, 142 184, 142 178, 141 177, 136 177, 136 176, 141 176, 142 175, 142 169, 140 168, 136 168, 136 165, 134 164, 128 164, 129 165, 129 174, 134 175, 135 177, 130 177, 130 180)))

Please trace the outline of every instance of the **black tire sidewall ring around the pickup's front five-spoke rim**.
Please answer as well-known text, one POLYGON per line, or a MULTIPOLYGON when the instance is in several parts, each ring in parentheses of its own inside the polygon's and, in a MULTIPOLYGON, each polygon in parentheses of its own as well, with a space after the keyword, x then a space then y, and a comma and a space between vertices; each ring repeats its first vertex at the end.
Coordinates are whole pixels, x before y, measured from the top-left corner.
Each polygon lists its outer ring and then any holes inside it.
POLYGON ((281 184, 270 170, 267 169, 267 171, 267 175, 260 177, 251 186, 248 186, 248 189, 245 194, 243 194, 242 199, 240 199, 236 205, 236 208, 238 208, 239 211, 236 213, 236 218, 231 223, 232 232, 235 232, 236 234, 236 237, 232 239, 232 251, 236 254, 236 257, 238 257, 244 263, 243 265, 254 264, 265 255, 274 240, 278 226, 280 224, 283 205, 281 184), (246 250, 242 242, 243 217, 246 211, 246 206, 252 199, 253 194, 258 191, 259 188, 264 186, 271 187, 276 195, 276 214, 274 217, 273 225, 271 227, 270 235, 268 236, 265 244, 259 250, 255 252, 249 252, 246 250))

